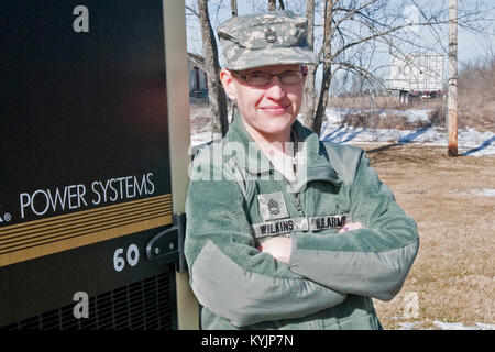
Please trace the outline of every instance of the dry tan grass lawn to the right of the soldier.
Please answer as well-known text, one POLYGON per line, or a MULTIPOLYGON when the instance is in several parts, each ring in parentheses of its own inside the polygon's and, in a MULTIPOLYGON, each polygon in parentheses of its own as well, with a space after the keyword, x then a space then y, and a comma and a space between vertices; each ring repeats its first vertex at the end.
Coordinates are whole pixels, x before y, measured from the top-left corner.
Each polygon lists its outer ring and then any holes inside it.
POLYGON ((439 329, 440 321, 494 329, 495 155, 452 158, 447 147, 362 146, 420 237, 402 292, 375 300, 384 328, 439 329))

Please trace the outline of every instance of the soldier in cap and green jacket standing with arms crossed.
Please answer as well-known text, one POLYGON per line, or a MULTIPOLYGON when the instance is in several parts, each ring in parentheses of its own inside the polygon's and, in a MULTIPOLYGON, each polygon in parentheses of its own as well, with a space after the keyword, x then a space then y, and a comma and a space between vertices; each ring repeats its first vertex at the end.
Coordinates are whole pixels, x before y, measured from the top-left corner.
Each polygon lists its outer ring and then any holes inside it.
POLYGON ((306 29, 290 11, 219 26, 220 78, 240 113, 196 156, 187 194, 204 329, 381 329, 372 297, 392 299, 416 257, 416 223, 363 150, 297 121, 316 63, 306 29))

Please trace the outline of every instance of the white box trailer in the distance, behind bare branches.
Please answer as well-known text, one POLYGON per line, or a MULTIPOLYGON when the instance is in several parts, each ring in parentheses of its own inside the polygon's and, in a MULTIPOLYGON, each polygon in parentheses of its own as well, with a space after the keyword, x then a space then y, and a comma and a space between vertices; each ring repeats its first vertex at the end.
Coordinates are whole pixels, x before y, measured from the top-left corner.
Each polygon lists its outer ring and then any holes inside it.
POLYGON ((400 102, 411 97, 433 98, 443 89, 443 55, 391 54, 389 89, 398 90, 400 102))

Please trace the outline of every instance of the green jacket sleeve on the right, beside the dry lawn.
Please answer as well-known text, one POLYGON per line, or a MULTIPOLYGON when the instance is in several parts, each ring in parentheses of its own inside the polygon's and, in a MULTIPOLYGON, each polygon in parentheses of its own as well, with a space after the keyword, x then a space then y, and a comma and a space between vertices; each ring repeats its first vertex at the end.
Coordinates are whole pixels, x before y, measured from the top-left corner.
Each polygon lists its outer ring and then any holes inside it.
POLYGON ((295 233, 289 267, 341 293, 392 299, 419 249, 416 222, 395 202, 365 154, 350 198, 352 221, 365 228, 328 235, 295 233))

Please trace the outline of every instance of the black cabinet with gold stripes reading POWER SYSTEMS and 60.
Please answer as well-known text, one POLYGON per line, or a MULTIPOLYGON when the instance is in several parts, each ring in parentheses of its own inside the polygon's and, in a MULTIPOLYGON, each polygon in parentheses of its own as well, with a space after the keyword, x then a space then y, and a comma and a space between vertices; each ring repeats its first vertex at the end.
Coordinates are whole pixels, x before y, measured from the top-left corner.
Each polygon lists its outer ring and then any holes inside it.
POLYGON ((198 328, 184 1, 0 13, 0 327, 198 328))

